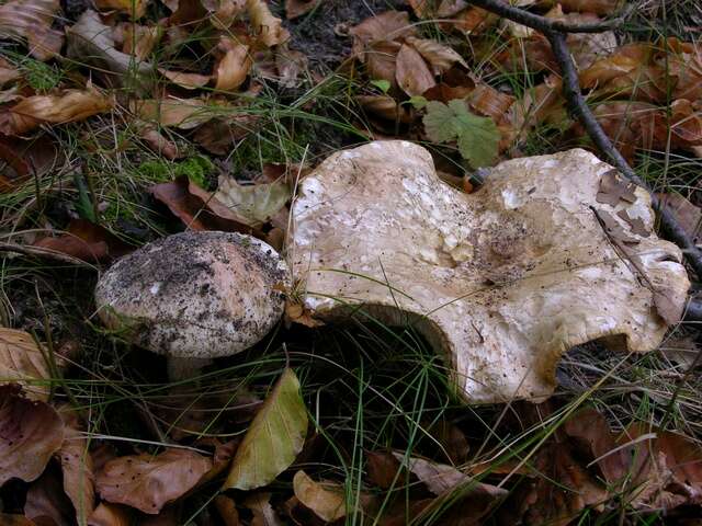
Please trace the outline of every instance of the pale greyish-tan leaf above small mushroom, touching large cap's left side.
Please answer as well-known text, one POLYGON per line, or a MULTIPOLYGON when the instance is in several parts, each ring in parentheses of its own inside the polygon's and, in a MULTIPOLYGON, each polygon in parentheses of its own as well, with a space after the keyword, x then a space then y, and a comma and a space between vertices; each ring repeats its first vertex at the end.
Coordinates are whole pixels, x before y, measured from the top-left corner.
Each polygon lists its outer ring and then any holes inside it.
POLYGON ((234 178, 222 176, 214 198, 216 202, 211 206, 222 204, 241 221, 251 227, 259 227, 285 206, 291 198, 291 191, 282 181, 244 185, 234 178))

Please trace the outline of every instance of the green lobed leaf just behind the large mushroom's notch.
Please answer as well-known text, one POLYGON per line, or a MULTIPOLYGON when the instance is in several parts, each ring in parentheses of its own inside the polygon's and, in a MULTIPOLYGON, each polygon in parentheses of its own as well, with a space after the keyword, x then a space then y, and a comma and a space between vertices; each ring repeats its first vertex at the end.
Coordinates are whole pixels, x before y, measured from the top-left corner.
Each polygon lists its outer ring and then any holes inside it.
POLYGON ((431 101, 423 118, 427 136, 434 142, 456 140, 458 151, 474 168, 489 164, 498 152, 500 133, 489 117, 468 112, 461 99, 444 104, 431 101))

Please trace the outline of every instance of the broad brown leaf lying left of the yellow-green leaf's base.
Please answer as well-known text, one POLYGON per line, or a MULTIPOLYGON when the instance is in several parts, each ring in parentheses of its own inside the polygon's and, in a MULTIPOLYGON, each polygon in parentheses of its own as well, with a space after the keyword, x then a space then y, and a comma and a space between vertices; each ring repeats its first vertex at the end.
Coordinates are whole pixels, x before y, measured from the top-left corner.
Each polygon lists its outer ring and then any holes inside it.
POLYGON ((131 455, 110 460, 97 473, 102 499, 158 514, 166 504, 192 490, 212 469, 212 460, 188 449, 159 455, 131 455))

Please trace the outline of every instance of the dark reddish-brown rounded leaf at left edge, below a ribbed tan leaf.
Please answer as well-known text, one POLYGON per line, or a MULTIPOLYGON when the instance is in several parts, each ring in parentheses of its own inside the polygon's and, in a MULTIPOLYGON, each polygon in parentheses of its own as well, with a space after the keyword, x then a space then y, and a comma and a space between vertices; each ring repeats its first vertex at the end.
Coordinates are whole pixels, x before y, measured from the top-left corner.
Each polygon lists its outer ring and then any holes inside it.
POLYGON ((16 384, 0 386, 0 485, 35 480, 63 442, 64 424, 50 405, 27 400, 16 384))

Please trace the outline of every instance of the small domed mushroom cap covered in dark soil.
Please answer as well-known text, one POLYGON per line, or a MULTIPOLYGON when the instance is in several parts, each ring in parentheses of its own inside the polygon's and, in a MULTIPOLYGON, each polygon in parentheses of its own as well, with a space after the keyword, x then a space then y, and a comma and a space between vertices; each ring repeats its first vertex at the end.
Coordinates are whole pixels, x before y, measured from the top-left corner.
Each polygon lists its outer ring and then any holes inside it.
POLYGON ((189 231, 115 263, 95 288, 102 320, 168 356, 228 356, 261 340, 283 312, 287 268, 263 241, 189 231))

